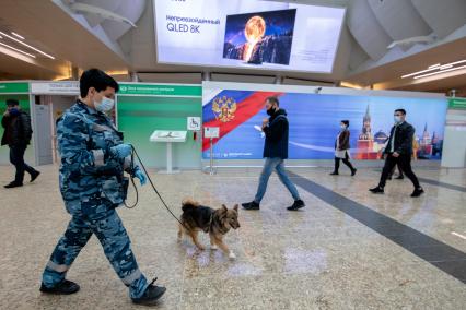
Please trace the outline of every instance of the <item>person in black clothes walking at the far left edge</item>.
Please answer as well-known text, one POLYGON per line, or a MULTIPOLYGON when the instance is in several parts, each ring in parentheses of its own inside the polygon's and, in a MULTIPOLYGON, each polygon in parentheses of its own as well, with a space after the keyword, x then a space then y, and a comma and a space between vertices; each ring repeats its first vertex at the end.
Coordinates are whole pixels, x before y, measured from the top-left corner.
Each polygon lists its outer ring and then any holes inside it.
POLYGON ((24 171, 31 175, 31 182, 37 179, 40 172, 24 163, 24 152, 33 134, 30 116, 21 110, 20 103, 16 99, 8 99, 7 107, 1 120, 4 128, 1 145, 10 147, 10 162, 16 167, 14 181, 4 186, 4 188, 11 189, 23 186, 24 171))

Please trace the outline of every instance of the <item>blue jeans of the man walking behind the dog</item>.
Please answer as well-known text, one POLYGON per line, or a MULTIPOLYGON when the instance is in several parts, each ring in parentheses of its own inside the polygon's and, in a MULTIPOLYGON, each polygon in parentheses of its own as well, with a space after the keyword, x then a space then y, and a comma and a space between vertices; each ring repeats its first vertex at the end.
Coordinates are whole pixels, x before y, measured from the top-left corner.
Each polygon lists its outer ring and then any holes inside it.
POLYGON ((287 187, 293 199, 300 200, 300 194, 298 193, 296 187, 290 181, 287 176, 283 159, 281 159, 280 157, 266 157, 266 163, 264 164, 263 172, 260 174, 259 178, 259 187, 257 188, 257 193, 254 201, 260 203, 260 201, 263 200, 267 190, 267 183, 273 169, 277 171, 278 178, 283 183, 283 186, 287 187))

